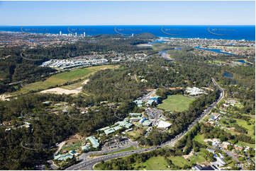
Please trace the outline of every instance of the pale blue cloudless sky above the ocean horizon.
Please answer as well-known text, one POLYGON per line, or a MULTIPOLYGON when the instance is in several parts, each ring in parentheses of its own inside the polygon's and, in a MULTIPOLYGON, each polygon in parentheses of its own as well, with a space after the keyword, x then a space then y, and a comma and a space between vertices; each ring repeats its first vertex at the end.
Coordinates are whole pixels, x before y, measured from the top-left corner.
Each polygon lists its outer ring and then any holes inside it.
POLYGON ((255 1, 0 1, 0 25, 255 25, 255 1))

